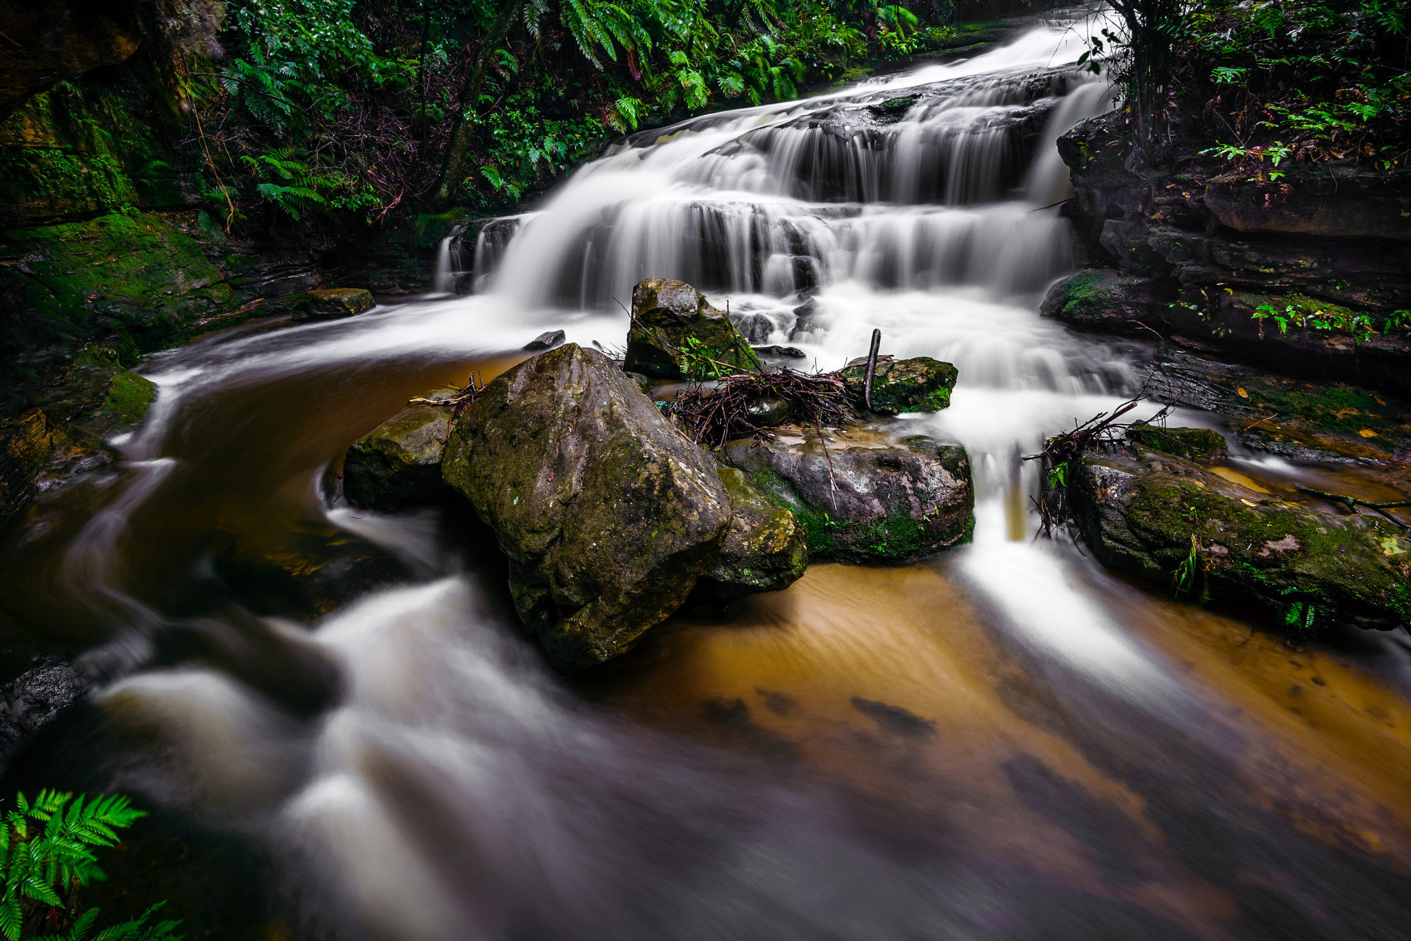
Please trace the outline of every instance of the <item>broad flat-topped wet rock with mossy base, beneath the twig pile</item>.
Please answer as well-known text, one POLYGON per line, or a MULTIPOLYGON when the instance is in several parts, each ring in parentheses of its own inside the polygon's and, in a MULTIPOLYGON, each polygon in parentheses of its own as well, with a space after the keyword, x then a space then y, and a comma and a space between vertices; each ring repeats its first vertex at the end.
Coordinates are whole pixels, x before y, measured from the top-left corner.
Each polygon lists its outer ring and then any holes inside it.
POLYGON ((729 464, 799 518, 814 560, 903 563, 969 539, 965 449, 864 429, 825 435, 827 451, 817 432, 797 426, 725 447, 729 464))

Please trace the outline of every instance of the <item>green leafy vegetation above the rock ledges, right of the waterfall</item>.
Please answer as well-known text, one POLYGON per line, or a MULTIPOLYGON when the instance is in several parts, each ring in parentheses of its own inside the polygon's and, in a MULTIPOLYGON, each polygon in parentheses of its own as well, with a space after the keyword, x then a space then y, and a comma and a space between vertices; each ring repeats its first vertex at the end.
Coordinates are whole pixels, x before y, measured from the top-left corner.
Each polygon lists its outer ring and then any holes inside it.
POLYGON ((1404 0, 1115 0, 1126 28, 1094 41, 1094 71, 1129 90, 1139 140, 1178 114, 1206 154, 1277 185, 1287 161, 1390 169, 1411 157, 1411 11, 1404 0))

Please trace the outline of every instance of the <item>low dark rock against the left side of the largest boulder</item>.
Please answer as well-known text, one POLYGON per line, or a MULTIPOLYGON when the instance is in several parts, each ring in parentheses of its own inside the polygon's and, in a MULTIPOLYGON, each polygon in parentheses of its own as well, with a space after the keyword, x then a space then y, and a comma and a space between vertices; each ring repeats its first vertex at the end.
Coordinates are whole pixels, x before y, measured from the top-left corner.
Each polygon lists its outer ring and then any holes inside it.
MULTIPOLYGON (((459 389, 446 387, 416 398, 443 401, 459 389)), ((401 509, 444 501, 440 456, 450 436, 452 409, 408 405, 349 447, 343 459, 343 494, 354 506, 401 509)))

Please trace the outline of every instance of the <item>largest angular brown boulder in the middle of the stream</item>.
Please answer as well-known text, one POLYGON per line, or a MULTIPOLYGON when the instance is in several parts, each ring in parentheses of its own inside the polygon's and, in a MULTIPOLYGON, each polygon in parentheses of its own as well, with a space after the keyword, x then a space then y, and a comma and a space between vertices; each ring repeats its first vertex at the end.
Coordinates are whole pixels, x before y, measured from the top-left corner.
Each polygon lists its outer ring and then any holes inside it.
POLYGON ((491 382, 442 473, 495 530, 519 618, 563 672, 626 652, 676 611, 731 519, 711 459, 576 343, 491 382))

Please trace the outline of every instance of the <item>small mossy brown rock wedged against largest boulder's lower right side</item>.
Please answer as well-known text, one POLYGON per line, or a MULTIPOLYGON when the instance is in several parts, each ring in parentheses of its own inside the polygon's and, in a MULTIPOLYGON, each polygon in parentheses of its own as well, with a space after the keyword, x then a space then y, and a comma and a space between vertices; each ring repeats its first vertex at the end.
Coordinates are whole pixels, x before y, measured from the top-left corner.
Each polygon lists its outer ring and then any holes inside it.
POLYGON ((720 559, 700 577, 693 602, 721 602, 761 591, 783 591, 809 567, 809 546, 794 515, 761 494, 735 467, 721 467, 731 522, 720 559))

